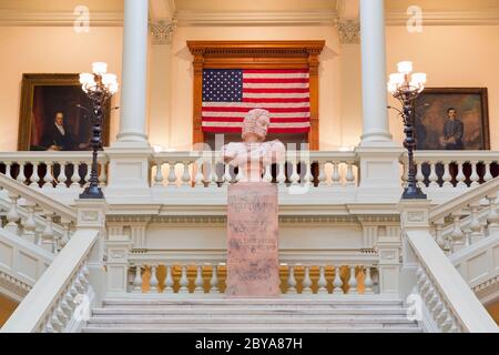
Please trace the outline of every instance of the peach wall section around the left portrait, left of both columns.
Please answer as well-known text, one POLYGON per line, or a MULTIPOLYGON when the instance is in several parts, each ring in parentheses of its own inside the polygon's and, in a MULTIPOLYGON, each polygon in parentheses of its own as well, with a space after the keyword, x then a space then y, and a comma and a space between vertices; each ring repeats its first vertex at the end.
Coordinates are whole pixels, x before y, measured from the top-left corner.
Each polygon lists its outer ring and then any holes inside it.
MULTIPOLYGON (((0 151, 17 150, 23 73, 79 73, 91 71, 93 61, 106 61, 109 70, 120 75, 122 32, 121 28, 77 33, 64 27, 0 27, 0 151)), ((111 140, 116 126, 113 111, 111 140)))

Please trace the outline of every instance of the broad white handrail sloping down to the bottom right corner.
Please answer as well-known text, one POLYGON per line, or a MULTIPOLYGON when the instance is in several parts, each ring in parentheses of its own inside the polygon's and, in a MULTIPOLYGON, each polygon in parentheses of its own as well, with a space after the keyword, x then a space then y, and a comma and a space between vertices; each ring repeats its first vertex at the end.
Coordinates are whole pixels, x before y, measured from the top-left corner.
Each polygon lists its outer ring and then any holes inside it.
POLYGON ((498 333, 499 327, 466 281, 426 231, 407 231, 407 240, 435 288, 465 332, 498 333))

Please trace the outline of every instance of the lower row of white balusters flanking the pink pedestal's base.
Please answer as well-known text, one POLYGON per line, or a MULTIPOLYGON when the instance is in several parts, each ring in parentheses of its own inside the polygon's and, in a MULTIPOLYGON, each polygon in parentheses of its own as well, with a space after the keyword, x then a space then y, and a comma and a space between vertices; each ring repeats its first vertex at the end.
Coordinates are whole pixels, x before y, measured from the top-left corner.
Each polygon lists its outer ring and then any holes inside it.
MULTIPOLYGON (((129 291, 146 294, 205 294, 225 292, 226 266, 222 262, 167 263, 134 260, 129 267, 129 291)), ((375 265, 286 264, 279 267, 283 295, 373 294, 375 265)))

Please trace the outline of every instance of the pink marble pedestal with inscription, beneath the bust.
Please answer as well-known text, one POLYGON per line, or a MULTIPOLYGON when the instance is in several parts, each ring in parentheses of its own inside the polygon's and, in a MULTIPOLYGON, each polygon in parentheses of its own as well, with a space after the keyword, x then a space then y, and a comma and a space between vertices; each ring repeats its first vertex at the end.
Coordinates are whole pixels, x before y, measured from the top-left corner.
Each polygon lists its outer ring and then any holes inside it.
POLYGON ((279 291, 277 186, 228 187, 227 297, 276 297, 279 291))

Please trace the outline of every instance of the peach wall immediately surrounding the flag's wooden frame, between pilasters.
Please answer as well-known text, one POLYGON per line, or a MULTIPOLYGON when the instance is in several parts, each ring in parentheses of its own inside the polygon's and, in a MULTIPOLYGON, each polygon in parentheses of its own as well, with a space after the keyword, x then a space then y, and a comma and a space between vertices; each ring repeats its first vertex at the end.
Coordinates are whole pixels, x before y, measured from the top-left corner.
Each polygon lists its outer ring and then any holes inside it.
MULTIPOLYGON (((193 68, 187 40, 325 40, 319 65, 319 142, 322 149, 340 142, 340 60, 337 31, 315 27, 179 27, 172 40, 172 106, 169 148, 192 143, 193 68)), ((152 142, 164 145, 163 141, 152 142)))

